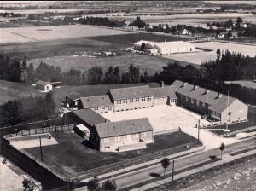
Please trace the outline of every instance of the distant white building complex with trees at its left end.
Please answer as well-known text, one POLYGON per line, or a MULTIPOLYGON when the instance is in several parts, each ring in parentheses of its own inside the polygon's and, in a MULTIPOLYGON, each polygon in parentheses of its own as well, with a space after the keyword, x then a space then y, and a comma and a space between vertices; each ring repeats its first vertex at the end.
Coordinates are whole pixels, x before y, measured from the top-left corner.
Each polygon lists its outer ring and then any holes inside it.
POLYGON ((141 40, 134 43, 134 49, 142 50, 153 55, 170 55, 175 53, 194 52, 195 46, 192 43, 183 41, 156 43, 141 40))

